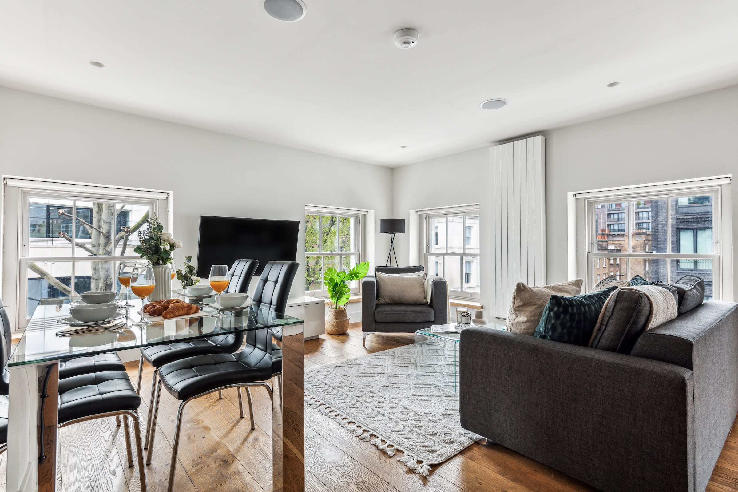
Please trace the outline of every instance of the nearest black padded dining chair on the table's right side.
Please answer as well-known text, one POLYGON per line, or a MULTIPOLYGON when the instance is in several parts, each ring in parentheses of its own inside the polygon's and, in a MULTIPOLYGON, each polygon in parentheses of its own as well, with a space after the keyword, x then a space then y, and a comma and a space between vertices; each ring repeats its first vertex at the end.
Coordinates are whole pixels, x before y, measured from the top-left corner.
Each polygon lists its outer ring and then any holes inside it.
MULTIPOLYGON (((289 261, 270 261, 266 263, 257 285, 254 300, 257 308, 283 313, 286 308, 292 281, 299 265, 289 261), (258 297, 257 297, 258 296, 258 297), (281 308, 282 311, 278 311, 281 308)), ((259 311, 256 311, 259 316, 259 311)), ((162 386, 177 400, 181 401, 177 411, 176 430, 172 445, 172 460, 169 469, 168 491, 171 492, 176 471, 177 450, 179 449, 179 434, 182 429, 182 412, 184 406, 196 398, 209 395, 213 392, 222 392, 224 389, 237 388, 238 399, 241 401, 241 387, 246 388, 249 397, 249 415, 251 429, 255 429, 254 409, 249 387, 264 387, 269 397, 274 401, 272 387, 269 381, 275 376, 274 361, 278 356, 279 372, 281 373, 281 350, 272 343, 272 330, 262 329, 246 332, 246 344, 238 353, 219 353, 204 356, 183 358, 182 360, 165 364, 159 368, 159 382, 156 385, 156 396, 151 404, 154 415, 151 421, 151 436, 148 441, 146 464, 151 463, 154 452, 154 436, 156 434, 156 419, 159 415, 159 400, 162 395, 162 386)), ((243 407, 241 418, 244 417, 243 407)))

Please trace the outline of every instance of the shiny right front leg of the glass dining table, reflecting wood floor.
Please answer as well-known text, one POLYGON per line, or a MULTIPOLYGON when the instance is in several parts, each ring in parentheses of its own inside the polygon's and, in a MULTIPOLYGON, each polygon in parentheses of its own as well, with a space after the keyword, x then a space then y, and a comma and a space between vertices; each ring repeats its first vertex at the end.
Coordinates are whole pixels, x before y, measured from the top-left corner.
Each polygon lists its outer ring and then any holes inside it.
POLYGON ((303 325, 283 327, 281 395, 272 409, 273 492, 305 491, 303 357, 303 325))

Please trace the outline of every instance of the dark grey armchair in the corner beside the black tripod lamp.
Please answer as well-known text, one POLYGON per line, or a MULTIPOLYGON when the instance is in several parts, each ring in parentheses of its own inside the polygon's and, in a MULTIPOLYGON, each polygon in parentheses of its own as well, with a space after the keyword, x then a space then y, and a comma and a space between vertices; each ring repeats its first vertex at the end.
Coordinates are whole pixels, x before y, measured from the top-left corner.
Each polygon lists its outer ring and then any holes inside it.
MULTIPOLYGON (((409 274, 424 271, 422 266, 377 266, 383 274, 409 274)), ((362 279, 362 332, 364 345, 372 333, 414 333, 430 325, 443 325, 448 319, 449 299, 446 279, 432 280, 430 304, 377 304, 376 277, 362 279)))

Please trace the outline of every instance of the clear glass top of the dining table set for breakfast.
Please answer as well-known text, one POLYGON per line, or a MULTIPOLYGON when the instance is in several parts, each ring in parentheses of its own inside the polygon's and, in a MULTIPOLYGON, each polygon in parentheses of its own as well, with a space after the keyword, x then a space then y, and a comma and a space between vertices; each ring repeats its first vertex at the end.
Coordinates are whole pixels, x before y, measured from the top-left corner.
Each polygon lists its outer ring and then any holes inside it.
MULTIPOLYGON (((286 325, 297 325, 302 320, 251 306, 241 312, 227 313, 223 318, 201 316, 197 318, 165 319, 146 326, 131 325, 139 319, 140 307, 127 312, 123 328, 104 333, 74 336, 56 336, 60 330, 69 328, 56 322, 69 317, 69 304, 39 305, 33 313, 28 327, 13 350, 8 366, 38 364, 61 358, 93 356, 98 353, 115 352, 138 347, 149 347, 176 341, 204 339, 244 331, 271 328, 278 331, 286 325)), ((215 310, 200 305, 201 311, 215 310)), ((119 312, 125 312, 120 309, 119 312)))

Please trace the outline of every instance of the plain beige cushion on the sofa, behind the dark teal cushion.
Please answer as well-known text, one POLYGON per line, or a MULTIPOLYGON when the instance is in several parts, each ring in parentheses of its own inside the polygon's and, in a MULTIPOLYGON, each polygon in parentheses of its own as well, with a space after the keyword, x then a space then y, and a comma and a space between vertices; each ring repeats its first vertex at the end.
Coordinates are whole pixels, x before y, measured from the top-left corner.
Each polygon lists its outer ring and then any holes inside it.
POLYGON ((582 291, 582 279, 567 283, 554 283, 531 287, 522 282, 515 285, 508 310, 506 330, 513 333, 533 336, 538 322, 541 320, 543 308, 551 295, 576 296, 582 291))

